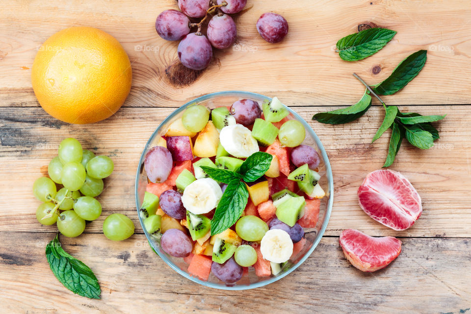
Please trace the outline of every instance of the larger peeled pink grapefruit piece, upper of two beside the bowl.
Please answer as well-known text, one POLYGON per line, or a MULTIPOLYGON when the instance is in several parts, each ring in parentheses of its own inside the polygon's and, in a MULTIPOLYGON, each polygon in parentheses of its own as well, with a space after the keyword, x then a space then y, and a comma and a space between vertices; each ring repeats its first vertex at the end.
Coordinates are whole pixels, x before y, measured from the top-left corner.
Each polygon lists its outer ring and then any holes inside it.
POLYGON ((419 193, 392 170, 369 173, 358 188, 358 201, 371 218, 394 230, 409 228, 422 213, 419 193))

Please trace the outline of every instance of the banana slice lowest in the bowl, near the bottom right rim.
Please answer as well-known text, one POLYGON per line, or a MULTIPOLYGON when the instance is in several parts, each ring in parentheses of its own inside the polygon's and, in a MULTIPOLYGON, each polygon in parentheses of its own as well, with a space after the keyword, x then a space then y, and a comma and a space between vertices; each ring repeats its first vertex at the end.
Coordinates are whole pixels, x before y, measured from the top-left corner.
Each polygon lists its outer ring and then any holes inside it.
POLYGON ((284 230, 268 230, 260 242, 260 251, 265 260, 283 263, 288 261, 293 254, 293 241, 284 230))

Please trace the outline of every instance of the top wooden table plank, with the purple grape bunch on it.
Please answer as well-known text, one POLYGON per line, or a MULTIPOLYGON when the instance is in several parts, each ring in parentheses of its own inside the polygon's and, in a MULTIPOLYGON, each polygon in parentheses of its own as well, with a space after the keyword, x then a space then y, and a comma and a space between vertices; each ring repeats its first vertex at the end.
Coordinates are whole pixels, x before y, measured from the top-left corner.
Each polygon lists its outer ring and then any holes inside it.
POLYGON ((397 95, 394 104, 469 104, 471 11, 468 0, 315 0, 249 1, 235 16, 237 46, 216 51, 205 71, 175 65, 177 42, 161 39, 157 15, 177 8, 175 1, 6 1, 0 12, 0 106, 37 106, 30 68, 39 46, 68 26, 95 26, 115 36, 130 55, 133 86, 125 106, 180 106, 220 90, 278 95, 287 105, 345 105, 362 94, 357 72, 374 84, 386 78, 410 53, 427 49, 419 77, 397 95), (267 11, 289 23, 287 38, 268 44, 255 23, 267 11), (51 17, 54 17, 51 20, 51 17), (359 61, 342 61, 336 42, 373 23, 397 31, 381 52, 359 61), (459 27, 455 27, 459 26, 459 27), (372 74, 380 66, 381 72, 372 74))

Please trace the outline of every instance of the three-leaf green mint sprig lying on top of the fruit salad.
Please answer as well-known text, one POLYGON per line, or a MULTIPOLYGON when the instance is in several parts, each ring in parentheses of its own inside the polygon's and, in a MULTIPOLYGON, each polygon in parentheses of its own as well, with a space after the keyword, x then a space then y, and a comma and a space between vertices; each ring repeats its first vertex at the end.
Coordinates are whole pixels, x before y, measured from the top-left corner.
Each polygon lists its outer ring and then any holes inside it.
POLYGON ((228 184, 211 219, 211 235, 225 231, 239 219, 249 199, 244 182, 254 182, 262 177, 270 168, 272 158, 268 153, 254 153, 245 159, 236 172, 201 166, 210 178, 228 184))

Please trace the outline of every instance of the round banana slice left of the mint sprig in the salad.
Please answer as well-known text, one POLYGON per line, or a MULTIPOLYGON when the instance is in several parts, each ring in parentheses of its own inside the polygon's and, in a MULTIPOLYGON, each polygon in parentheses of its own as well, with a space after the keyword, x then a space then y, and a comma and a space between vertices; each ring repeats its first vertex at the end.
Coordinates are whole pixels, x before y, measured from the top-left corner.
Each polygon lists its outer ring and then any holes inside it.
POLYGON ((217 207, 222 197, 219 184, 211 178, 201 178, 190 183, 183 191, 183 207, 195 215, 205 214, 217 207))

